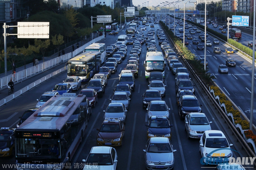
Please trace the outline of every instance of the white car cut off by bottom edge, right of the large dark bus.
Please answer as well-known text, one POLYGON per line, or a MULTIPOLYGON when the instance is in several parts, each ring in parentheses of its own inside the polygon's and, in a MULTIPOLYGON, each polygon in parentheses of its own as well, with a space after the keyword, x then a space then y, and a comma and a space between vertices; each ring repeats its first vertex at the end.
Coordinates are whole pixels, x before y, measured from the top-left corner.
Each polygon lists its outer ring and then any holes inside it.
POLYGON ((93 146, 84 162, 84 169, 87 170, 93 166, 98 169, 115 170, 117 165, 117 153, 115 148, 110 146, 93 146))

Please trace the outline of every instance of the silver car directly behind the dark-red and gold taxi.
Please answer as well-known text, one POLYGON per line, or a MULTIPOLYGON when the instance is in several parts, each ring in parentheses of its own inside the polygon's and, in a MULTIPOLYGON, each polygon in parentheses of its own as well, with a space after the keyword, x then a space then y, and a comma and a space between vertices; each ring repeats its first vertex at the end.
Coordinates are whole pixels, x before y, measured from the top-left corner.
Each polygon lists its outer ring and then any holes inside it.
POLYGON ((125 122, 126 119, 126 112, 125 105, 123 103, 110 103, 108 104, 108 107, 104 115, 104 119, 115 119, 120 120, 121 122, 125 122))

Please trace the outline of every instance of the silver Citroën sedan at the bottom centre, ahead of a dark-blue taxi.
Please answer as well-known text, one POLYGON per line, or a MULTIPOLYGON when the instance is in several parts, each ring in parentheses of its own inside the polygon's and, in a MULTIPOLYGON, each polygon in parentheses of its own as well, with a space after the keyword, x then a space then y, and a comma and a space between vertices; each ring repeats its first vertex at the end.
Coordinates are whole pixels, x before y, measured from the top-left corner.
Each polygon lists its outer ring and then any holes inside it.
POLYGON ((173 169, 174 152, 172 144, 167 137, 152 137, 146 144, 146 169, 173 169))

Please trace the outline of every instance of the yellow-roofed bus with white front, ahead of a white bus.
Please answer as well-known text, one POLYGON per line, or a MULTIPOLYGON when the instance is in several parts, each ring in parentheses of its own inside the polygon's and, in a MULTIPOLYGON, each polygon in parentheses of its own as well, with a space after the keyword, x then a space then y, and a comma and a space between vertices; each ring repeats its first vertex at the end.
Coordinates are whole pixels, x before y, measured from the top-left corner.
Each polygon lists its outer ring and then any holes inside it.
POLYGON ((90 81, 100 70, 100 56, 100 52, 90 51, 69 59, 64 67, 66 69, 67 66, 67 76, 79 76, 82 82, 90 81))

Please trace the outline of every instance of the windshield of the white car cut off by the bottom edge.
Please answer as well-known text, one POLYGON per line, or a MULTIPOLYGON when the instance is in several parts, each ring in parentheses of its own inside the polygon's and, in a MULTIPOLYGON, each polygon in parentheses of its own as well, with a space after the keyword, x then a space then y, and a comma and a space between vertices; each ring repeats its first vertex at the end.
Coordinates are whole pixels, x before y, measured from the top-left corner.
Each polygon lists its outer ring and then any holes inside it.
POLYGON ((86 165, 113 165, 111 154, 90 154, 86 165))

